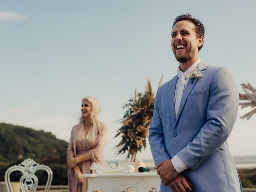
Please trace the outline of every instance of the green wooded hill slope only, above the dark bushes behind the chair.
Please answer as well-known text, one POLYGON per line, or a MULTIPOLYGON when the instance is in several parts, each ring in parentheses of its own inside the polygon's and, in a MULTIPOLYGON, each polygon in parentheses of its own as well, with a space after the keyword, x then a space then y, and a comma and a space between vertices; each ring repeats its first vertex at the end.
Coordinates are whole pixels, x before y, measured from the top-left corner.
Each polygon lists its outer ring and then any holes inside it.
POLYGON ((0 161, 32 158, 40 163, 66 164, 68 143, 53 134, 0 123, 0 161))

